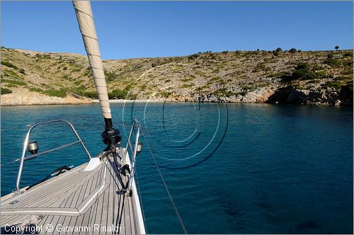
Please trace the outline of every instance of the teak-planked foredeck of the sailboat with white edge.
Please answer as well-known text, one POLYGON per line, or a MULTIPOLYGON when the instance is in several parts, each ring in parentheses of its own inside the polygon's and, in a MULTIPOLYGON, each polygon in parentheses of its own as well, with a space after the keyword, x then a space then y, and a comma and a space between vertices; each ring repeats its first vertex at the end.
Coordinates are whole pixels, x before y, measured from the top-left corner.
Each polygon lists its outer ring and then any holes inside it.
MULTIPOLYGON (((119 167, 119 159, 116 162, 119 167)), ((78 166, 21 195, 1 198, 2 232, 8 226, 37 225, 42 228, 39 234, 118 234, 119 227, 119 234, 144 234, 135 182, 132 197, 121 193, 128 176, 119 173, 113 157, 93 171, 84 171, 85 167, 78 166), (47 229, 48 224, 54 231, 47 229)))

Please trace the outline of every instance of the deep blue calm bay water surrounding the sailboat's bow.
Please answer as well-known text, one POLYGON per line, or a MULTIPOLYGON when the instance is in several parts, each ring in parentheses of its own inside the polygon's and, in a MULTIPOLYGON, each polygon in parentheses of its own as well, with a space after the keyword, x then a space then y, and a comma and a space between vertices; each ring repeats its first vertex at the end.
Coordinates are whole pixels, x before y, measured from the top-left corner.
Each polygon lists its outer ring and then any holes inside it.
MULTIPOLYGON (((184 168, 161 171, 188 233, 353 234, 353 108, 136 103, 111 109, 123 142, 132 116, 144 126, 137 176, 148 233, 182 232, 151 149, 159 165, 184 168)), ((59 118, 74 124, 91 154, 105 147, 97 104, 2 107, 1 164, 21 156, 26 125, 59 118)), ((55 125, 34 130, 32 139, 44 150, 74 138, 55 125)), ((79 146, 27 161, 21 186, 84 161, 79 146)), ((1 167, 1 195, 15 188, 17 171, 18 163, 1 167)))

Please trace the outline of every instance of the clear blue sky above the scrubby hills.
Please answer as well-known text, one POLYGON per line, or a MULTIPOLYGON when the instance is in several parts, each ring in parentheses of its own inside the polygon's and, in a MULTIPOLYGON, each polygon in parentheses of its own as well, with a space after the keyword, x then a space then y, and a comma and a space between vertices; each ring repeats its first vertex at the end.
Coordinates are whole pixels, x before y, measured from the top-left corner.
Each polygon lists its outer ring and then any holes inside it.
MULTIPOLYGON (((353 2, 93 1, 103 59, 353 48, 353 2)), ((71 1, 1 1, 1 45, 85 55, 71 1)))

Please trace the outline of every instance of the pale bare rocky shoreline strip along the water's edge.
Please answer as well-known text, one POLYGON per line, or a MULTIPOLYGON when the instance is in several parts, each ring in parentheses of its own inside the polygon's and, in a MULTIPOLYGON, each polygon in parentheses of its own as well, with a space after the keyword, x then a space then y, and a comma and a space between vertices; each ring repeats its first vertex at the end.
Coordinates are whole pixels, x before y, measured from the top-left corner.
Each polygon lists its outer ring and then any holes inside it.
MULTIPOLYGON (((202 103, 294 103, 302 105, 353 105, 353 93, 346 89, 309 89, 301 90, 293 86, 257 88, 245 96, 215 96, 215 94, 190 93, 190 96, 169 96, 166 98, 151 97, 149 99, 110 100, 110 103, 146 103, 146 102, 202 102, 202 103)), ((68 95, 66 98, 45 96, 41 93, 28 91, 25 88, 13 93, 1 95, 2 106, 17 105, 79 105, 98 103, 81 96, 68 95)))

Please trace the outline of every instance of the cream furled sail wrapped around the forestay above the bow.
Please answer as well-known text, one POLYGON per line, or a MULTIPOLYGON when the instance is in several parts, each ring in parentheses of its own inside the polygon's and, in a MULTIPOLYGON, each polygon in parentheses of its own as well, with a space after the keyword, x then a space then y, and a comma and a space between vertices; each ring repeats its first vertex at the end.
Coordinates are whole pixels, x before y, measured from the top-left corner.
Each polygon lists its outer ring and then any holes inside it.
POLYGON ((98 93, 98 99, 101 104, 103 117, 110 119, 110 104, 108 103, 107 84, 105 83, 105 73, 101 59, 100 48, 96 34, 95 23, 91 11, 90 1, 72 1, 77 21, 84 40, 87 57, 91 66, 93 79, 98 93))

